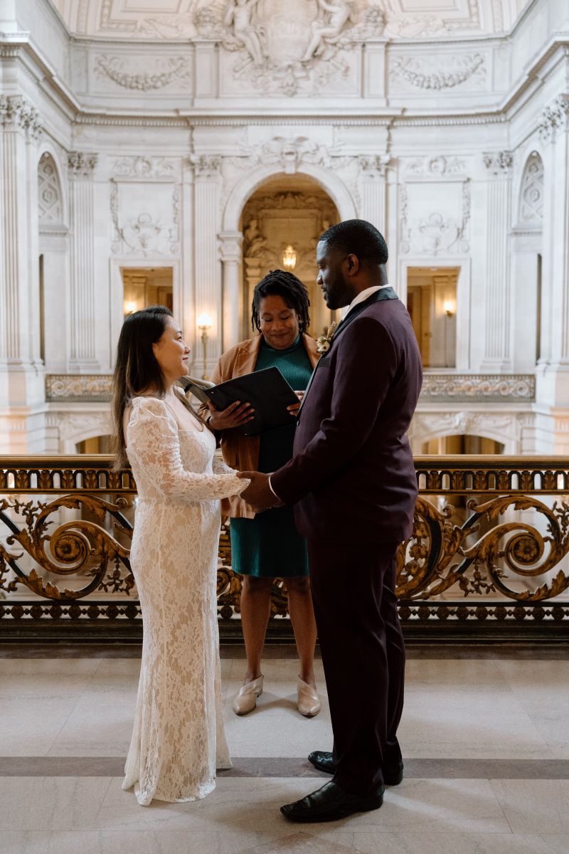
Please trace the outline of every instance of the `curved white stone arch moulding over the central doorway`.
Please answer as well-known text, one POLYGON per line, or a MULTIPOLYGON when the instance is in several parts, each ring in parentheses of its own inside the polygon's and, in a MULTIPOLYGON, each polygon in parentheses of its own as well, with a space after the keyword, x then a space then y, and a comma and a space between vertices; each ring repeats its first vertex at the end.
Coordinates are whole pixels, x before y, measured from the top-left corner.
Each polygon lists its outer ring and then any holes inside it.
MULTIPOLYGON (((244 175, 235 184, 229 194, 224 208, 223 230, 239 231, 239 219, 247 199, 253 195, 255 190, 258 190, 262 184, 268 181, 269 178, 276 178, 283 173, 284 170, 282 168, 276 167, 275 164, 270 164, 268 166, 258 166, 244 175)), ((340 219, 355 219, 357 217, 356 203, 350 191, 332 170, 303 163, 302 167, 293 174, 306 175, 308 178, 316 181, 316 184, 319 184, 322 190, 328 193, 328 196, 330 196, 336 208, 338 208, 340 219)))

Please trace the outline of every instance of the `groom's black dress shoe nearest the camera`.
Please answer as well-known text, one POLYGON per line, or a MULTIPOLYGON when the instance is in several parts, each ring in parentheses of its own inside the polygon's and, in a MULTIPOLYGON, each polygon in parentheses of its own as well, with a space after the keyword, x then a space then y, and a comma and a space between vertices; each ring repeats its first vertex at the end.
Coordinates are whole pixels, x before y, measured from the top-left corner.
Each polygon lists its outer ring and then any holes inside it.
POLYGON ((330 781, 302 800, 281 807, 283 816, 291 822, 335 822, 353 812, 379 810, 383 804, 383 786, 363 795, 345 792, 338 783, 330 781))

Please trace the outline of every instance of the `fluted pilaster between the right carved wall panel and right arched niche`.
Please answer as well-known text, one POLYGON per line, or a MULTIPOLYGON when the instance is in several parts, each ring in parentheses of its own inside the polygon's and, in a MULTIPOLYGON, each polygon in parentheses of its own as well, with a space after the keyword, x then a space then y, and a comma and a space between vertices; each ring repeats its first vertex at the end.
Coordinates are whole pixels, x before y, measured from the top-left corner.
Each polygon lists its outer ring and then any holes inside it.
POLYGON ((484 155, 489 172, 486 220, 485 371, 511 371, 509 229, 513 158, 509 151, 484 155))

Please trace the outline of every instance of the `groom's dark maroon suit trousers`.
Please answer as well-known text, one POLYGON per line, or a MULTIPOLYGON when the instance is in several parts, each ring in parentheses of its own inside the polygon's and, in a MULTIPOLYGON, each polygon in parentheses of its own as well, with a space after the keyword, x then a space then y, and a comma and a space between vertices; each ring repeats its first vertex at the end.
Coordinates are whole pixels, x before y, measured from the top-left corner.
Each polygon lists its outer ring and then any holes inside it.
POLYGON ((401 758, 405 647, 395 595, 398 543, 308 539, 311 589, 334 732, 334 781, 365 793, 401 758))

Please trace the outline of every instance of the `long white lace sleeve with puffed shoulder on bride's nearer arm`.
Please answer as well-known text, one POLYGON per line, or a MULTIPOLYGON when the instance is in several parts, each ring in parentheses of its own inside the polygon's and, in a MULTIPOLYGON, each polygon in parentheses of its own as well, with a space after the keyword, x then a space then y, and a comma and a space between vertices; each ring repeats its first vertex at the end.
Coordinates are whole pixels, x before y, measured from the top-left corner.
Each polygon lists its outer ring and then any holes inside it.
POLYGON ((209 475, 186 471, 180 456, 176 421, 158 399, 136 399, 126 428, 126 441, 127 450, 132 450, 146 477, 169 498, 187 501, 229 498, 249 483, 233 473, 209 475))

